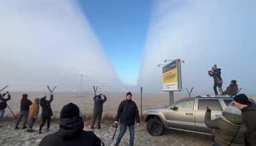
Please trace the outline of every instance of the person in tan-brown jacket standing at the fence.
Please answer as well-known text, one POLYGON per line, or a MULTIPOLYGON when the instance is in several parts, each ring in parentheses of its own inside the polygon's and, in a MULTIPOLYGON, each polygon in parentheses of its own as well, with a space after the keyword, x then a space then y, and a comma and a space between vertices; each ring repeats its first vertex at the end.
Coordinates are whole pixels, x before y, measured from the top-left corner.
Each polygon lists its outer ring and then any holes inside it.
POLYGON ((33 104, 30 106, 30 110, 29 110, 29 119, 30 119, 30 124, 29 124, 29 128, 28 128, 28 132, 33 132, 34 130, 33 125, 36 121, 36 118, 38 116, 39 113, 39 98, 36 98, 35 101, 33 102, 33 104))

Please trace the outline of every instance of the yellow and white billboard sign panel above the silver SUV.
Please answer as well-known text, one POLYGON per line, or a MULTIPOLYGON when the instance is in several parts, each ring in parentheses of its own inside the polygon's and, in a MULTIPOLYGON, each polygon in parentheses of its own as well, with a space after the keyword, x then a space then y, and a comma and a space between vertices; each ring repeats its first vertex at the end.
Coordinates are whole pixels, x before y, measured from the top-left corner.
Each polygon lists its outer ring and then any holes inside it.
POLYGON ((182 90, 180 59, 176 59, 163 67, 163 90, 182 90))

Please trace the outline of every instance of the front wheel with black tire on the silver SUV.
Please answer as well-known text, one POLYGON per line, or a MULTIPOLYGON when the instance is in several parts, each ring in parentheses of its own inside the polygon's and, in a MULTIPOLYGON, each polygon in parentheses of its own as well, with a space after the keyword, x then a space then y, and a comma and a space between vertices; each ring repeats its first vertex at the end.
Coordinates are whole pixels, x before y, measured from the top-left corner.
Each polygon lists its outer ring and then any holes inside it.
POLYGON ((159 118, 151 118, 147 122, 147 130, 150 135, 159 136, 164 132, 164 125, 159 118))

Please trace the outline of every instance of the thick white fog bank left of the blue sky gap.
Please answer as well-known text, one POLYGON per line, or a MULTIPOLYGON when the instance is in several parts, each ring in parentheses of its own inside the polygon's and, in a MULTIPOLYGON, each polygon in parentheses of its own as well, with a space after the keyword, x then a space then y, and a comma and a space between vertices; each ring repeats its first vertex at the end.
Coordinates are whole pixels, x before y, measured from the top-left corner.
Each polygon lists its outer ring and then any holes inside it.
POLYGON ((1 85, 119 84, 76 1, 0 1, 1 85))

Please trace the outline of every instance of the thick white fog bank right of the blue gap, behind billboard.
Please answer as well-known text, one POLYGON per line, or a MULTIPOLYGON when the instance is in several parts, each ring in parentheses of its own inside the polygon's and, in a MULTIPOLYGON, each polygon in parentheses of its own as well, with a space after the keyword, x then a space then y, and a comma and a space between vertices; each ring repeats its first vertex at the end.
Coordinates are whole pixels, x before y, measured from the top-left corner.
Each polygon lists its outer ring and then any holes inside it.
POLYGON ((256 1, 154 1, 138 84, 161 88, 164 59, 184 59, 183 87, 213 94, 207 70, 222 69, 255 94, 256 1))

